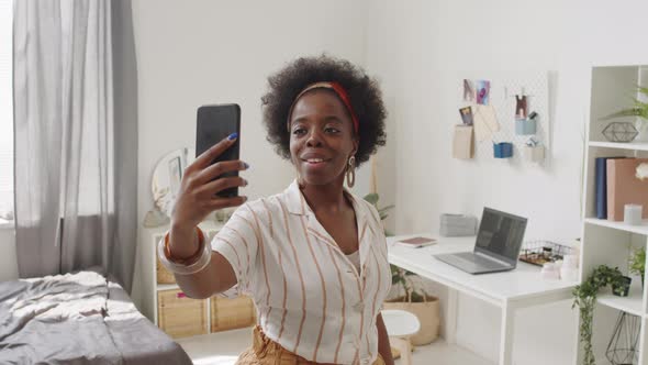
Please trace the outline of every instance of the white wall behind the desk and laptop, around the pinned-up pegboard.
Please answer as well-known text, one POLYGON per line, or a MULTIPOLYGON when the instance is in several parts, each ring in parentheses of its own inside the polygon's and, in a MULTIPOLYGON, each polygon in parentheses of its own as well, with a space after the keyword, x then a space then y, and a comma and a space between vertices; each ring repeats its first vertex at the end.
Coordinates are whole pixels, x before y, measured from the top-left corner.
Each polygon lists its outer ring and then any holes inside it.
MULTIPOLYGON (((395 228, 438 232, 443 212, 483 206, 529 217, 527 237, 580 235, 581 131, 592 64, 646 64, 645 1, 380 0, 368 19, 367 68, 384 73, 395 124, 395 228), (386 62, 389 59, 390 62, 386 62), (393 64, 392 64, 393 62, 393 64), (552 150, 545 169, 450 157, 461 71, 556 71, 552 150)), ((393 134, 392 134, 393 135, 393 134)), ((391 185, 392 182, 389 182, 391 185)), ((388 192, 389 193, 389 192, 388 192)), ((442 292, 443 295, 443 292, 442 292)), ((568 364, 576 312, 565 301, 516 318, 514 363, 568 364), (549 325, 554 325, 550 329, 549 325), (556 331, 559 325, 560 331, 556 331), (541 341, 545 347, 536 341, 541 341)), ((459 342, 498 358, 499 311, 461 297, 459 342)))

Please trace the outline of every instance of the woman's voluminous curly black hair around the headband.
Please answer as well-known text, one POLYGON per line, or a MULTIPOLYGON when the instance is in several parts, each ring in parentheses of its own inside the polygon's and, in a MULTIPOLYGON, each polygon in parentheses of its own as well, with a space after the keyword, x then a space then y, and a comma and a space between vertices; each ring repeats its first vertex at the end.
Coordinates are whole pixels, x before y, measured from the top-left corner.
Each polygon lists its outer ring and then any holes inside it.
POLYGON ((369 161, 378 146, 386 144, 387 111, 378 81, 348 60, 327 55, 302 57, 268 77, 269 90, 261 97, 267 140, 281 157, 290 159, 290 133, 287 129, 290 107, 306 86, 319 81, 336 81, 349 96, 359 122, 356 166, 360 166, 369 161))

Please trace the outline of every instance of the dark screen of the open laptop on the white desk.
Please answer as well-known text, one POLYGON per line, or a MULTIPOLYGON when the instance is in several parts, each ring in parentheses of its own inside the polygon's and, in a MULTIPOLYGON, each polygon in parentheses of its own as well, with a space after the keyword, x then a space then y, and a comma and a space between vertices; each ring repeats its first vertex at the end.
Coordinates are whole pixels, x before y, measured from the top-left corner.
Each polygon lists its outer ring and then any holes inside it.
POLYGON ((484 208, 474 251, 515 264, 525 229, 526 218, 484 208))

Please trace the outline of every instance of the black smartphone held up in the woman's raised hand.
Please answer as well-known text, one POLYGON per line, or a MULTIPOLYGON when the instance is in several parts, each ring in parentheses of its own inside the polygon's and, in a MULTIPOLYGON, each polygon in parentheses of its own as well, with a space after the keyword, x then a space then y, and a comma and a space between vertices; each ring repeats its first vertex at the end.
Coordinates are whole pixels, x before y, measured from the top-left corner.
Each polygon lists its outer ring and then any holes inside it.
MULTIPOLYGON (((232 133, 238 133, 236 142, 214 158, 210 165, 223 161, 239 159, 241 145, 241 107, 238 104, 202 106, 198 108, 198 121, 195 124, 195 157, 211 148, 214 144, 226 139, 232 133)), ((225 173, 221 177, 238 176, 238 170, 225 173)), ((221 190, 216 196, 232 198, 238 196, 238 187, 221 190)))

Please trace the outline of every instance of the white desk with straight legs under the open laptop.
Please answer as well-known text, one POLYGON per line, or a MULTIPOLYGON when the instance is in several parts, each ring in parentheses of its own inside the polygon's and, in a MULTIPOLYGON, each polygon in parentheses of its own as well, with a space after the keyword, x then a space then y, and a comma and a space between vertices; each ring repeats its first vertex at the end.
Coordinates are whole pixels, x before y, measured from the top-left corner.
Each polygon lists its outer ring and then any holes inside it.
POLYGON ((500 336, 500 365, 512 364, 513 312, 516 309, 539 306, 571 298, 578 283, 545 280, 538 266, 518 263, 512 272, 471 275, 433 257, 435 254, 472 251, 474 236, 440 237, 435 245, 411 248, 394 244, 395 241, 429 234, 410 234, 388 237, 389 262, 424 278, 448 287, 448 318, 446 342, 456 343, 457 292, 462 292, 502 310, 500 336))

